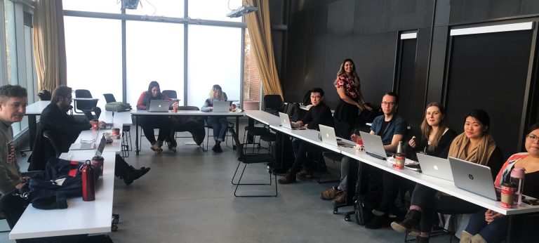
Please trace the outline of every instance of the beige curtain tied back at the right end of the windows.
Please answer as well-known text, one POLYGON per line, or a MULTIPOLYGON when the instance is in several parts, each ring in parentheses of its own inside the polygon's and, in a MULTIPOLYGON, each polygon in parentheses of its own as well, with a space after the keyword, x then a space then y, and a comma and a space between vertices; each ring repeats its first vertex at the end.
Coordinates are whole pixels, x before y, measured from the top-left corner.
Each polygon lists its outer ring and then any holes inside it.
POLYGON ((258 72, 262 77, 265 95, 279 95, 283 98, 283 90, 275 58, 273 55, 272 29, 270 24, 269 0, 247 0, 251 6, 257 6, 258 11, 245 15, 251 44, 255 51, 258 72))

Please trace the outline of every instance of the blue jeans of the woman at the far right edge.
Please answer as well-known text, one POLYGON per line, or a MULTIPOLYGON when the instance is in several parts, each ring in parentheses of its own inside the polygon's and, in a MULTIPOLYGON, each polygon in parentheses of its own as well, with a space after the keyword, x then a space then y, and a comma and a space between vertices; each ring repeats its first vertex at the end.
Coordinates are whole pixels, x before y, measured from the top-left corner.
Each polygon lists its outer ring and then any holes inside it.
POLYGON ((486 209, 481 209, 470 218, 466 226, 466 232, 469 232, 471 235, 479 234, 488 243, 500 242, 502 239, 505 239, 509 217, 503 216, 496 218, 492 223, 486 223, 485 212, 486 209))

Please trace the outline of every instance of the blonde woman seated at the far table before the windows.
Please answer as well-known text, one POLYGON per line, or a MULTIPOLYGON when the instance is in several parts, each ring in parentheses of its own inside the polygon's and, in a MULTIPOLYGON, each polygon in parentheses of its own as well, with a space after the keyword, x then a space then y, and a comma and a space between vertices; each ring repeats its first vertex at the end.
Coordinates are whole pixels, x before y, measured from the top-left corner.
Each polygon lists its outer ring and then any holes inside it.
MULTIPOLYGON (((211 87, 209 96, 210 98, 206 99, 204 105, 202 105, 200 109, 203 112, 212 112, 213 102, 215 101, 228 100, 227 94, 222 91, 221 86, 218 84, 211 87)), ((208 117, 208 124, 210 124, 213 128, 213 139, 215 139, 215 145, 213 145, 211 150, 213 150, 213 152, 222 152, 221 142, 225 140, 225 135, 227 134, 228 129, 227 117, 210 116, 208 117)))

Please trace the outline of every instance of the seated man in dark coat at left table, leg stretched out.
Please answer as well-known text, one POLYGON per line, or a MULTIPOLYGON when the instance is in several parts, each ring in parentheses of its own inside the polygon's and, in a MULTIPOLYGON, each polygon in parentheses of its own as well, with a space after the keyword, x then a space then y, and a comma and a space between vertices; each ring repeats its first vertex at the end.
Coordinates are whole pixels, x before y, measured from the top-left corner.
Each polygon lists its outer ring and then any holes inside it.
MULTIPOLYGON (((41 132, 53 131, 57 138, 58 147, 60 147, 62 152, 69 151, 69 147, 79 137, 81 131, 91 129, 91 124, 86 119, 77 121, 73 116, 67 114, 67 111, 71 108, 71 102, 72 88, 58 86, 53 91, 51 104, 45 107, 39 119, 41 132)), ((100 125, 104 125, 103 123, 103 121, 100 121, 100 125)), ((34 151, 32 152, 34 156, 32 156, 30 162, 29 171, 45 169, 45 164, 51 157, 50 150, 52 150, 52 147, 47 146, 50 144, 43 139, 43 136, 39 136, 37 140, 40 141, 34 145, 34 151)), ((149 168, 145 167, 135 169, 133 166, 127 164, 119 155, 116 155, 114 174, 119 178, 123 178, 124 183, 127 185, 133 183, 133 180, 140 178, 140 176, 143 176, 148 171, 149 168)))

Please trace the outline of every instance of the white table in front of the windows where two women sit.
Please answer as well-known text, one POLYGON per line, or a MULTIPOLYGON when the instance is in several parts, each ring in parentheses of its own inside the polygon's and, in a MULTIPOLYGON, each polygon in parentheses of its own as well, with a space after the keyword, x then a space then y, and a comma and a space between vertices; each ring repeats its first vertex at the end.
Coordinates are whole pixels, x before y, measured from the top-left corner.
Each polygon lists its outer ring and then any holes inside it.
POLYGON ((147 110, 131 110, 131 115, 135 117, 135 129, 136 129, 136 137, 135 137, 135 154, 138 155, 138 152, 140 152, 138 148, 139 144, 139 137, 138 137, 138 119, 140 116, 199 116, 199 117, 213 117, 213 116, 221 116, 221 117, 235 117, 236 118, 236 133, 239 131, 239 117, 243 117, 245 115, 245 112, 202 112, 200 110, 178 110, 178 112, 172 112, 169 110, 168 112, 148 112, 147 110))

